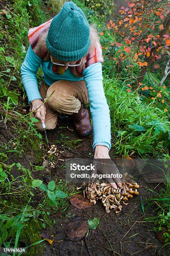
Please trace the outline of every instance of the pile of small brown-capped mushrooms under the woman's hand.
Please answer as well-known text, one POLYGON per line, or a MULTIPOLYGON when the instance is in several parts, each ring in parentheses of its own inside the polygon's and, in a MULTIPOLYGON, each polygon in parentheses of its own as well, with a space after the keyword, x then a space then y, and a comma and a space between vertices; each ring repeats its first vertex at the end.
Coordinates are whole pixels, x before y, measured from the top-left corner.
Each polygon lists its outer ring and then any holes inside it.
MULTIPOLYGON (((82 187, 80 187, 82 188, 82 187)), ((79 190, 80 188, 76 188, 79 190)), ((134 195, 138 196, 140 186, 136 182, 122 182, 122 188, 114 189, 109 183, 88 183, 84 187, 83 195, 87 197, 90 202, 96 204, 97 200, 101 200, 106 212, 109 213, 111 209, 115 213, 122 210, 122 205, 128 205, 128 199, 134 195)))

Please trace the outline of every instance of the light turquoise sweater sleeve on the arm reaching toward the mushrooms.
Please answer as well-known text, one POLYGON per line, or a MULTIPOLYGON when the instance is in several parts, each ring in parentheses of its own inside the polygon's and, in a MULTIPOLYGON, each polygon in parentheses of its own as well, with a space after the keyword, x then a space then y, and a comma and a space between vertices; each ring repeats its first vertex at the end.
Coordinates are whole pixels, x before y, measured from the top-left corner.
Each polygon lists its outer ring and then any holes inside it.
POLYGON ((107 105, 103 84, 102 64, 97 62, 83 71, 90 101, 90 112, 93 124, 93 150, 97 145, 111 148, 110 110, 107 105))

